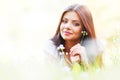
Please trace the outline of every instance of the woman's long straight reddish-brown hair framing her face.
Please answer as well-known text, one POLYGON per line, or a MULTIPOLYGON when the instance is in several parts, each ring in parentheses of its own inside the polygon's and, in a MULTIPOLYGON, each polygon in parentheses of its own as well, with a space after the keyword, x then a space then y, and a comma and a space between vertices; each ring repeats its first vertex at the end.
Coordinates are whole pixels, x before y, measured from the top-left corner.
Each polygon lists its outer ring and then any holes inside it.
POLYGON ((88 38, 89 39, 96 38, 91 12, 86 6, 74 4, 74 5, 68 6, 61 15, 56 33, 51 39, 55 43, 56 47, 59 46, 60 44, 64 44, 65 42, 65 40, 61 37, 61 34, 60 34, 60 25, 61 25, 64 14, 69 11, 74 11, 79 15, 79 18, 83 23, 84 30, 88 33, 88 35, 84 37, 83 41, 88 38))

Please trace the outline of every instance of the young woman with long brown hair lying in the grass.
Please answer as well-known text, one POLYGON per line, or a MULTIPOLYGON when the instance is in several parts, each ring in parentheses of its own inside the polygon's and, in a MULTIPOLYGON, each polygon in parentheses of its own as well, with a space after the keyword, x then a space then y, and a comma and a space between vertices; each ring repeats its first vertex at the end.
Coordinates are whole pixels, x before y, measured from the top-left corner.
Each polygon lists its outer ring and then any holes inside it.
POLYGON ((64 59, 70 68, 74 63, 80 66, 84 63, 84 66, 89 68, 96 61, 100 66, 101 50, 89 9, 79 4, 68 6, 61 16, 55 35, 49 40, 44 51, 55 61, 64 59))

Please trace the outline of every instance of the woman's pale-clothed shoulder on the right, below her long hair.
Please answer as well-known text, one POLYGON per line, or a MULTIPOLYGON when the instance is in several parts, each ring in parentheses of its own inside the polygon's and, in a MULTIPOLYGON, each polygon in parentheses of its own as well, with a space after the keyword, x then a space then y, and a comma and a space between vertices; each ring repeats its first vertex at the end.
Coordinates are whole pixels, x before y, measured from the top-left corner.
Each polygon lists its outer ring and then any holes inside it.
POLYGON ((84 46, 90 62, 94 62, 103 53, 104 47, 100 39, 86 40, 84 46))

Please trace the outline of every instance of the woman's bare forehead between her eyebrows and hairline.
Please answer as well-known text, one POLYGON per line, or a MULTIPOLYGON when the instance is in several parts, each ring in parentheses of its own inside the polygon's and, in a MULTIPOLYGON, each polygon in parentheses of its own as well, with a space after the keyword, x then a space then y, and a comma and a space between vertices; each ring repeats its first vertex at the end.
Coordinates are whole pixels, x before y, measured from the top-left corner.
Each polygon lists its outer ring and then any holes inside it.
POLYGON ((79 15, 78 15, 76 12, 74 12, 74 11, 66 12, 66 13, 64 14, 63 18, 80 21, 79 15))

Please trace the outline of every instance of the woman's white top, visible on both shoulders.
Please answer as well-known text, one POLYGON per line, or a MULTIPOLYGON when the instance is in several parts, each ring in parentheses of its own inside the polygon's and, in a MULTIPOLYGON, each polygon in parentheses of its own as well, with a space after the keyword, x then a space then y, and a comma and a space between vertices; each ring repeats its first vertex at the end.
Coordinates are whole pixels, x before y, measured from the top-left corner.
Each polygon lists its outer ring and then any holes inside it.
MULTIPOLYGON (((99 48, 96 48, 94 42, 87 41, 85 43, 86 48, 86 55, 88 57, 89 63, 94 63, 97 55, 101 54, 101 51, 103 50, 100 46, 101 43, 96 40, 99 48), (90 44, 90 45, 89 45, 90 44)), ((51 61, 60 61, 60 57, 58 56, 58 50, 57 47, 54 45, 53 41, 48 40, 44 47, 43 47, 43 53, 46 54, 51 61)))

